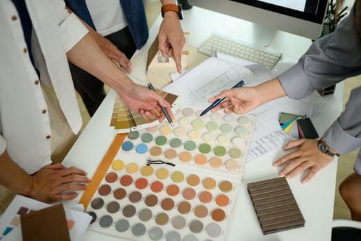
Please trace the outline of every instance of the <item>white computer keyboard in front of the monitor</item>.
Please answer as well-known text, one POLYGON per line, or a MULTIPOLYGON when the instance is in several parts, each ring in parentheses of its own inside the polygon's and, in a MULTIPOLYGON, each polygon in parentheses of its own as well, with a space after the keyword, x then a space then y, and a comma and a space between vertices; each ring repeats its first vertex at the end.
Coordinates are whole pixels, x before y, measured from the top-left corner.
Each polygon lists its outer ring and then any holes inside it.
POLYGON ((281 52, 233 41, 219 35, 210 36, 206 42, 199 46, 198 52, 208 56, 215 56, 216 52, 221 52, 265 65, 269 69, 272 69, 282 55, 281 52))

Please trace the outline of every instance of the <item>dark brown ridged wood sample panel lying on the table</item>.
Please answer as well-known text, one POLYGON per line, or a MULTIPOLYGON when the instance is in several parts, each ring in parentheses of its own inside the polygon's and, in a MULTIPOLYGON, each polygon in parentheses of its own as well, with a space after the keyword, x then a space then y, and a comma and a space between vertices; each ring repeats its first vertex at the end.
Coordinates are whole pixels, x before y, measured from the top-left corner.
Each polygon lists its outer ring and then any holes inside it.
POLYGON ((263 234, 305 226, 285 177, 248 183, 247 189, 263 234))

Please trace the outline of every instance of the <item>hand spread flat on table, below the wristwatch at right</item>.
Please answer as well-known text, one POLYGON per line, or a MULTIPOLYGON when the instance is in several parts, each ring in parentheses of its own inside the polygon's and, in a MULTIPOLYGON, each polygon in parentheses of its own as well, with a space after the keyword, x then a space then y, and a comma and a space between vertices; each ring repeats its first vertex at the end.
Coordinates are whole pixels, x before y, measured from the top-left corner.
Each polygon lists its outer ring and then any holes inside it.
POLYGON ((273 165, 279 167, 285 163, 286 166, 279 172, 280 176, 286 178, 293 178, 301 171, 309 169, 307 175, 301 181, 306 183, 313 178, 320 169, 326 167, 331 163, 333 157, 323 154, 318 150, 317 140, 300 139, 292 140, 285 147, 284 150, 297 148, 282 158, 278 159, 273 165))

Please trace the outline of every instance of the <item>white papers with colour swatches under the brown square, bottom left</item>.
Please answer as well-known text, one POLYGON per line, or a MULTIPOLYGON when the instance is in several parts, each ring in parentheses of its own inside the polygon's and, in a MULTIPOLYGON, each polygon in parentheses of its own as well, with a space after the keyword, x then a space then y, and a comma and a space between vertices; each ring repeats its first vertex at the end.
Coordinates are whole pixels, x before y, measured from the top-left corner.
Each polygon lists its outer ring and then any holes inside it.
MULTIPOLYGON (((0 240, 22 240, 20 217, 31 213, 32 211, 45 209, 50 206, 51 205, 31 198, 19 195, 15 196, 14 200, 12 200, 11 204, 0 218, 0 240)), ((72 209, 70 209, 70 207, 65 208, 65 216, 70 239, 72 241, 77 241, 81 240, 83 237, 83 233, 91 221, 91 216, 83 212, 83 205, 76 205, 71 208, 72 209)))

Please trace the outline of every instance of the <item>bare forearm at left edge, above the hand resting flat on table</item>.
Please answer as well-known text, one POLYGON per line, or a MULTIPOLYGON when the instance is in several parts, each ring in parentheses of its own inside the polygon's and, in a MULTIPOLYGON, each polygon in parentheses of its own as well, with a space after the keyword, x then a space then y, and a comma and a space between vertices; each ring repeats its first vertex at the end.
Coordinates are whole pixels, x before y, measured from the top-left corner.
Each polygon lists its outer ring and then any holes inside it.
POLYGON ((24 196, 32 190, 32 177, 12 161, 7 151, 0 155, 0 185, 24 196))

